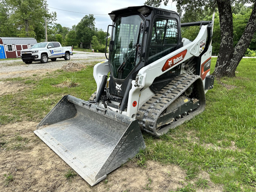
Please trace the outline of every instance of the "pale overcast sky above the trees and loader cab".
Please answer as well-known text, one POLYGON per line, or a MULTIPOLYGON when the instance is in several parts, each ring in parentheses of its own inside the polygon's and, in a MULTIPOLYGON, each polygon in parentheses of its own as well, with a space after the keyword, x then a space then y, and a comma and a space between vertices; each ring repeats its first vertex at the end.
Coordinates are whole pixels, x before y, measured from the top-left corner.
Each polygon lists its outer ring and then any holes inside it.
MULTIPOLYGON (((56 23, 60 23, 61 26, 72 27, 79 23, 85 14, 94 14, 95 26, 104 31, 107 31, 108 25, 112 24, 112 20, 108 16, 113 10, 125 8, 128 6, 142 6, 145 0, 47 0, 49 12, 57 13, 56 23), (57 9, 53 9, 57 8, 57 9), (72 12, 61 11, 63 9, 72 12), (81 13, 73 13, 81 12, 81 13), (95 15, 102 14, 102 15, 95 15)), ((163 9, 176 10, 176 4, 169 0, 167 6, 161 5, 163 9)))

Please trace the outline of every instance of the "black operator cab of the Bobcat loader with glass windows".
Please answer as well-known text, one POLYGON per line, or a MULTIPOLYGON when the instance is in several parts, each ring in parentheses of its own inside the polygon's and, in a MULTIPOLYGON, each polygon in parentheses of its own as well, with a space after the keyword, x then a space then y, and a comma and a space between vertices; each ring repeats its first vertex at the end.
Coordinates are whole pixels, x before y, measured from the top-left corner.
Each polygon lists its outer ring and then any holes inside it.
MULTIPOLYGON (((109 15, 113 24, 108 26, 108 30, 109 27, 112 29, 108 93, 122 99, 129 80, 135 80, 142 67, 181 47, 180 16, 176 12, 151 6, 127 7, 109 15)), ((172 76, 176 74, 170 71, 158 77, 151 89, 164 87, 172 76)))

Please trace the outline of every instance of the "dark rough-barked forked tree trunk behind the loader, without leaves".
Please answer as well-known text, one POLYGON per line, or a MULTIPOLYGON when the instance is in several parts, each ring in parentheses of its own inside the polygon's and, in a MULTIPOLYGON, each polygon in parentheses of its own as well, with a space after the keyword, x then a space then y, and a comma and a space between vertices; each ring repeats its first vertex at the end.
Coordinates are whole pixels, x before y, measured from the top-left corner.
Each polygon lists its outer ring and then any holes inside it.
MULTIPOLYGON (((227 1, 228 2, 228 1, 227 1)), ((227 47, 225 39, 227 34, 227 28, 225 23, 223 23, 223 15, 225 15, 225 9, 224 5, 221 6, 221 4, 225 3, 224 1, 218 0, 218 10, 220 13, 220 25, 221 25, 221 45, 220 45, 220 52, 218 55, 216 67, 214 70, 214 75, 217 77, 234 77, 236 68, 241 61, 241 59, 244 56, 245 51, 247 50, 247 47, 249 47, 249 44, 253 38, 254 33, 256 32, 256 3, 253 5, 253 10, 250 15, 250 19, 247 23, 247 26, 244 29, 243 35, 239 39, 238 43, 236 44, 236 47, 233 48, 233 24, 231 26, 232 30, 232 46, 227 47), (220 5, 220 6, 219 6, 220 5), (222 10, 223 9, 223 10, 222 10)), ((230 1, 229 1, 230 3, 230 1)), ((226 5, 227 6, 227 5, 226 5)), ((231 10, 231 5, 230 10, 231 10)), ((227 11, 227 9, 226 9, 227 11)), ((232 18, 232 12, 228 13, 230 14, 230 17, 232 18)), ((230 26, 230 23, 228 23, 228 26, 230 26)))

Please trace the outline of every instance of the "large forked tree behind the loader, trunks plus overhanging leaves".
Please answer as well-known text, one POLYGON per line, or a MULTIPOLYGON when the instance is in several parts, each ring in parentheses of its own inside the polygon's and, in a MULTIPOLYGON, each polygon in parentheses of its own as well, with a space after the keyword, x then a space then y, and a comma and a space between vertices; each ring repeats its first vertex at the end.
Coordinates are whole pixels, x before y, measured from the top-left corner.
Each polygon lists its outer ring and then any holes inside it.
MULTIPOLYGON (((167 5, 168 0, 147 0, 145 4, 160 6, 167 5)), ((205 10, 214 12, 218 8, 221 27, 221 43, 214 75, 217 77, 235 76, 236 67, 241 61, 247 47, 256 32, 256 2, 255 0, 173 0, 177 2, 177 11, 183 14, 183 20, 192 21, 204 16, 205 10), (241 38, 234 46, 233 10, 232 5, 238 3, 253 3, 250 18, 247 21, 241 38)))

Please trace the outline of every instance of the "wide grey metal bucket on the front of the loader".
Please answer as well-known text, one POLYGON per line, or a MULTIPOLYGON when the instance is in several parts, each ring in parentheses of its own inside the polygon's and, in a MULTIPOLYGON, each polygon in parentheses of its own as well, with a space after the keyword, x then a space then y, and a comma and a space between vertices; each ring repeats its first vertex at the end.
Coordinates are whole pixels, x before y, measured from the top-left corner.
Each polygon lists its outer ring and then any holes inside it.
POLYGON ((137 120, 70 95, 34 132, 91 186, 145 148, 137 120))

